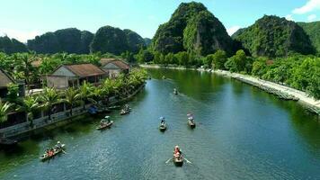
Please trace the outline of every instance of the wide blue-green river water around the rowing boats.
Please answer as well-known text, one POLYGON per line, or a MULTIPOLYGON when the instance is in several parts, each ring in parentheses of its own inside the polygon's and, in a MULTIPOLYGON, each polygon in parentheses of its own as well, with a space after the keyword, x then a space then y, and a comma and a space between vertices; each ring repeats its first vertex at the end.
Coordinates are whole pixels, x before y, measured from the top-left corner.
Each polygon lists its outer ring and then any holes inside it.
POLYGON ((320 179, 320 122, 301 104, 207 72, 148 71, 153 78, 129 102, 133 111, 110 114, 111 129, 95 130, 100 118, 81 116, 0 150, 0 179, 320 179), (40 162, 58 140, 67 154, 40 162), (174 145, 191 163, 165 163, 174 145))

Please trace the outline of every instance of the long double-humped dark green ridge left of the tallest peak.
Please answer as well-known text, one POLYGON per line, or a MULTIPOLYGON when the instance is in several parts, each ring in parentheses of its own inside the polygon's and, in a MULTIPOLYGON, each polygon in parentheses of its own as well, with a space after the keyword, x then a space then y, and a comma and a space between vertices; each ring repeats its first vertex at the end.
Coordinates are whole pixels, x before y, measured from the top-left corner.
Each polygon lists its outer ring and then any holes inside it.
POLYGON ((125 51, 137 53, 145 46, 145 40, 135 31, 120 30, 111 26, 100 28, 95 34, 68 28, 47 32, 28 40, 28 48, 37 53, 58 52, 88 54, 90 51, 120 55, 125 51))

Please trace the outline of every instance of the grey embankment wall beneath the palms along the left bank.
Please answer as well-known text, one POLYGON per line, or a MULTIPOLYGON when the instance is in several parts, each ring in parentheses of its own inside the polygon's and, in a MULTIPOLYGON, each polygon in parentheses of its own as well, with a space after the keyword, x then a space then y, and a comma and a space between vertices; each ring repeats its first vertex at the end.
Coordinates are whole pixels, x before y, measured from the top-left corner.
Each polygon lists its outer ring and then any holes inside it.
MULTIPOLYGON (((129 94, 125 98, 116 99, 115 97, 110 97, 110 103, 108 105, 128 102, 132 97, 138 94, 145 87, 145 85, 146 83, 140 85, 136 91, 134 91, 132 94, 129 94)), ((68 112, 58 112, 51 115, 51 120, 48 120, 47 116, 33 120, 33 128, 30 127, 30 122, 26 121, 21 124, 2 129, 0 130, 0 133, 2 134, 4 139, 20 139, 20 137, 22 137, 24 134, 28 134, 31 131, 43 130, 47 128, 50 129, 50 127, 56 128, 62 125, 66 125, 67 123, 75 121, 77 116, 87 113, 87 109, 91 105, 92 104, 87 104, 85 106, 85 109, 83 109, 83 107, 74 108, 72 116, 69 116, 68 112)))

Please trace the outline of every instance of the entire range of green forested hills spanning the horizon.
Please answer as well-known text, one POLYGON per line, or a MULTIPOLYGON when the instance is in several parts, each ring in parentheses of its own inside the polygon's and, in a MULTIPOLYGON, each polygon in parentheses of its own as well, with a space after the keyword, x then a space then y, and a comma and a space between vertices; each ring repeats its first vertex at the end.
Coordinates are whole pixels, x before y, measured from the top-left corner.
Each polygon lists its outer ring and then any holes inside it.
MULTIPOLYGON (((241 21, 241 17, 239 17, 241 21)), ((253 25, 236 31, 232 38, 214 14, 201 3, 182 3, 167 23, 161 24, 151 40, 135 31, 103 26, 95 34, 68 28, 47 32, 28 40, 27 45, 8 37, 0 38, 5 53, 34 50, 37 53, 137 53, 146 48, 161 53, 194 51, 201 56, 223 49, 231 55, 244 49, 253 56, 282 57, 290 53, 320 52, 320 22, 295 23, 274 15, 265 15, 253 25)))

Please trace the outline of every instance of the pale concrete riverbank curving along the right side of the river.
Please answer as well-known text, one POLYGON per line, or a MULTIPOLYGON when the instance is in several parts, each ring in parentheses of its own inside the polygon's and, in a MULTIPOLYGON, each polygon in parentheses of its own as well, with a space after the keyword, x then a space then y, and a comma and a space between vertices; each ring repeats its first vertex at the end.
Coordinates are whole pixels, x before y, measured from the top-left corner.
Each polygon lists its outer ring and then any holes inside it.
MULTIPOLYGON (((186 69, 185 67, 161 67, 159 65, 140 65, 140 67, 186 69)), ((199 70, 199 71, 208 71, 208 72, 216 73, 221 76, 229 76, 236 80, 242 81, 246 84, 256 86, 268 93, 275 94, 280 99, 294 100, 294 101, 298 101, 299 103, 303 103, 304 105, 307 106, 307 109, 309 111, 315 112, 318 115, 320 115, 320 100, 316 100, 313 97, 308 96, 306 92, 299 91, 297 89, 294 89, 285 85, 279 85, 276 83, 272 83, 270 81, 265 81, 254 76, 231 73, 225 70, 212 70, 212 69, 203 69, 203 68, 191 68, 191 69, 199 70)))

